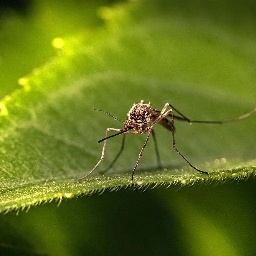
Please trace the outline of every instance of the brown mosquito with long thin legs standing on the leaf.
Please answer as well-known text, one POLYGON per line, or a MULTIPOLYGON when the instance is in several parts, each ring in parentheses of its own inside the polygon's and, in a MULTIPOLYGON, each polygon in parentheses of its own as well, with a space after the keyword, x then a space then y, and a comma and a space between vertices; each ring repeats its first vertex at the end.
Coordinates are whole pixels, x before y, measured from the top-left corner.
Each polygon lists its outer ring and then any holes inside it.
MULTIPOLYGON (((102 111, 102 112, 112 116, 111 114, 109 114, 106 111, 103 111, 103 110, 100 110, 100 109, 95 109, 95 110, 102 111)), ((133 183, 134 172, 137 168, 137 165, 140 161, 140 158, 143 154, 143 151, 144 151, 144 149, 145 149, 145 147, 148 143, 148 140, 149 140, 149 137, 150 137, 151 134, 152 134, 153 139, 154 139, 154 145, 155 145, 155 151, 156 151, 156 157, 157 157, 157 165, 158 165, 158 168, 161 168, 159 150, 158 150, 158 146, 157 146, 157 142, 156 142, 155 133, 153 131, 153 128, 155 127, 156 124, 161 124, 162 126, 164 126, 165 128, 167 128, 168 130, 170 130, 172 132, 172 147, 179 153, 179 155, 185 160, 185 162, 189 166, 191 166, 193 169, 195 169, 196 171, 198 171, 200 173, 211 176, 211 174, 209 172, 201 171, 201 170, 197 169, 195 166, 193 166, 183 156, 183 154, 176 148, 175 139, 174 139, 174 132, 175 132, 174 119, 177 119, 179 121, 187 121, 190 124, 192 124, 192 123, 226 124, 226 123, 236 122, 236 121, 239 121, 241 119, 244 119, 248 116, 251 116, 255 112, 256 112, 256 108, 251 110, 247 114, 244 114, 242 116, 239 116, 239 117, 233 118, 233 119, 227 119, 227 120, 224 120, 224 121, 198 121, 198 120, 191 120, 191 119, 187 118, 180 111, 178 111, 176 108, 174 108, 170 103, 166 103, 162 110, 157 110, 157 109, 154 109, 150 106, 150 102, 145 103, 143 100, 141 100, 140 103, 134 104, 132 106, 132 108, 130 109, 129 113, 127 113, 127 120, 124 122, 124 129, 108 128, 106 130, 106 134, 105 134, 104 139, 101 139, 101 140, 98 141, 98 143, 101 143, 101 142, 104 141, 100 160, 98 161, 98 163, 93 167, 93 169, 88 174, 86 174, 84 177, 82 177, 80 179, 77 179, 77 180, 85 179, 90 174, 92 174, 94 172, 94 170, 97 168, 97 166, 104 159, 106 140, 109 139, 109 138, 115 137, 119 134, 122 134, 122 133, 123 133, 123 139, 122 139, 121 149, 120 149, 120 151, 118 152, 118 154, 116 155, 116 157, 114 158, 114 160, 112 161, 112 163, 109 165, 109 167, 106 170, 109 170, 110 168, 112 168, 113 165, 115 164, 115 162, 117 161, 117 159, 119 158, 119 156, 121 155, 121 153, 124 149, 125 135, 127 133, 130 133, 130 134, 148 133, 148 136, 147 136, 147 139, 144 143, 144 146, 142 147, 142 149, 140 151, 139 158, 138 158, 138 160, 137 160, 137 162, 134 166, 134 169, 133 169, 133 172, 132 172, 132 177, 131 177, 131 183, 133 183), (171 109, 167 110, 168 107, 170 107, 171 109), (174 115, 174 111, 178 115, 174 115), (170 118, 171 120, 169 120, 168 118, 170 118), (108 136, 109 131, 114 131, 114 132, 117 132, 117 133, 113 134, 111 136, 108 136)), ((114 116, 112 116, 112 117, 115 118, 116 120, 120 121, 116 117, 114 117, 114 116)), ((120 121, 120 122, 122 122, 122 121, 120 121)))

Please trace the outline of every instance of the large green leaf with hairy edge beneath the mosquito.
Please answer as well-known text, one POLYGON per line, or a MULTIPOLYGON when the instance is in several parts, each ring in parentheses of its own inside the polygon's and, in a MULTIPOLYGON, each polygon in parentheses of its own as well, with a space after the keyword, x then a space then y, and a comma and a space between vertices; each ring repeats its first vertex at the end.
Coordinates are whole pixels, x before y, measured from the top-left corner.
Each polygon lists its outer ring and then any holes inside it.
MULTIPOLYGON (((196 120, 235 118, 255 108, 255 56, 246 47, 248 37, 174 16, 168 6, 165 13, 152 8, 140 2, 99 8, 104 26, 55 38, 56 57, 19 79, 22 89, 1 104, 1 211, 133 186, 131 173, 146 135, 127 136, 125 152, 102 175, 121 147, 121 136, 109 139, 98 170, 74 181, 98 162, 97 141, 105 130, 123 128, 94 108, 122 120, 142 99, 160 110, 169 102, 196 120)), ((254 33, 250 40, 255 45, 254 33)), ((171 133, 156 127, 165 168, 156 168, 151 139, 135 186, 255 174, 254 124, 255 116, 221 126, 175 122, 177 148, 193 165, 213 172, 211 178, 189 168, 172 149, 171 133)))

